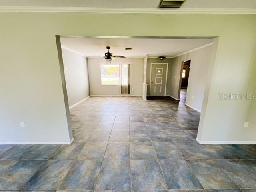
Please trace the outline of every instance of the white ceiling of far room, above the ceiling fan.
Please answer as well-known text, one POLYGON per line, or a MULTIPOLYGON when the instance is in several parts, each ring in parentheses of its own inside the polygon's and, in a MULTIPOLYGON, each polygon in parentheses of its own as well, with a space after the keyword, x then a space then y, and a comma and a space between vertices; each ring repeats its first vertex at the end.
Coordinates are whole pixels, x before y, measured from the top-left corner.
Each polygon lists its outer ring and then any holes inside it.
POLYGON ((100 57, 110 52, 128 58, 160 55, 174 57, 212 42, 212 39, 117 39, 117 38, 61 38, 61 45, 86 57, 100 57), (125 47, 132 50, 126 51, 125 47))

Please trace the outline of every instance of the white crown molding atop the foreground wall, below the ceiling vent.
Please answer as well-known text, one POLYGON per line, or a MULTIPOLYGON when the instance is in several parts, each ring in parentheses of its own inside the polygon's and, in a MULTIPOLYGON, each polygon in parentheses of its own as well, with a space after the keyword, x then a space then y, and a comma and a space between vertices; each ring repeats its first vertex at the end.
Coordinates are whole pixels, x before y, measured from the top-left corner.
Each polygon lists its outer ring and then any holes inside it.
POLYGON ((73 13, 139 13, 139 14, 256 14, 256 9, 216 8, 94 8, 94 7, 22 7, 0 6, 0 12, 73 12, 73 13))

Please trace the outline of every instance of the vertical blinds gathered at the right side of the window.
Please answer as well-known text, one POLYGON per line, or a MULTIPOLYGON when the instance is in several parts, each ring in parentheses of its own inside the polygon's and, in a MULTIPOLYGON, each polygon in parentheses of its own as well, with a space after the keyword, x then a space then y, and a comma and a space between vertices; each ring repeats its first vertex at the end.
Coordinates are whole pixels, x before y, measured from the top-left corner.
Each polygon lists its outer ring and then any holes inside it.
POLYGON ((121 94, 130 94, 130 64, 122 64, 121 94))

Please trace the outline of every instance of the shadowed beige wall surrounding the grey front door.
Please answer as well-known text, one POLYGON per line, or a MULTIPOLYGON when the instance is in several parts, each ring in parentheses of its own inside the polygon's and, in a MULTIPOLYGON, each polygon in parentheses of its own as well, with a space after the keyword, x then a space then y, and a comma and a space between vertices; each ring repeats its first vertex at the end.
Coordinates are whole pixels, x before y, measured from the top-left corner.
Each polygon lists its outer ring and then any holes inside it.
POLYGON ((168 63, 168 73, 167 73, 167 82, 166 82, 166 96, 170 95, 170 84, 171 84, 171 71, 172 71, 172 58, 166 58, 164 60, 160 60, 158 58, 148 58, 147 60, 147 95, 150 94, 150 67, 151 63, 168 63))

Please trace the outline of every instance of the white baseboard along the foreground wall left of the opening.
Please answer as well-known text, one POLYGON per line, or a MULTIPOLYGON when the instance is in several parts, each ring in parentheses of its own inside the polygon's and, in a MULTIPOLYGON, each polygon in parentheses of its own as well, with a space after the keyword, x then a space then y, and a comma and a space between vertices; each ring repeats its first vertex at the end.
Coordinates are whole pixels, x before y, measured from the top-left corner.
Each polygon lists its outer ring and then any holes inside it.
POLYGON ((8 142, 8 141, 2 141, 0 142, 0 145, 24 145, 24 144, 30 144, 30 145, 48 145, 48 144, 54 144, 54 145, 70 145, 74 141, 74 138, 72 138, 70 141, 17 141, 17 142, 8 142))

